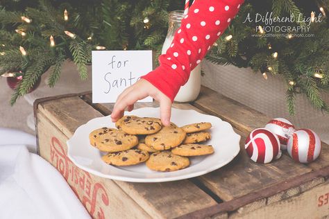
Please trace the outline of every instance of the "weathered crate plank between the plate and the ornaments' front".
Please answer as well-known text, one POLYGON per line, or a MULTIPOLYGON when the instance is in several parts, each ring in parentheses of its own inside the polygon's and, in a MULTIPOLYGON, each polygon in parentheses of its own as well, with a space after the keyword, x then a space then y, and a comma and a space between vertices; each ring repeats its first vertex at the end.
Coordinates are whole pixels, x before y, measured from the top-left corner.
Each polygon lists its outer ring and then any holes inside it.
POLYGON ((294 163, 286 155, 271 164, 257 164, 246 155, 244 133, 237 130, 235 132, 242 136, 239 155, 223 168, 199 177, 209 189, 224 201, 233 200, 312 170, 294 163))

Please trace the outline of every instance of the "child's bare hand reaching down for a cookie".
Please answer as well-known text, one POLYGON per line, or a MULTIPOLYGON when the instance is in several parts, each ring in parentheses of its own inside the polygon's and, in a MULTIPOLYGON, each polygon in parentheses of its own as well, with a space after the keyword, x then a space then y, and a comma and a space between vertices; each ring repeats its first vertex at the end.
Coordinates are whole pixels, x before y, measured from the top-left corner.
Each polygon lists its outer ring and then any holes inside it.
POLYGON ((134 108, 137 100, 142 100, 147 96, 158 100, 160 103, 160 118, 163 125, 170 125, 171 100, 163 94, 158 88, 154 87, 150 82, 144 79, 138 80, 131 87, 126 88, 117 98, 115 107, 113 108, 111 118, 112 122, 116 122, 124 116, 124 109, 128 107, 130 112, 134 108))

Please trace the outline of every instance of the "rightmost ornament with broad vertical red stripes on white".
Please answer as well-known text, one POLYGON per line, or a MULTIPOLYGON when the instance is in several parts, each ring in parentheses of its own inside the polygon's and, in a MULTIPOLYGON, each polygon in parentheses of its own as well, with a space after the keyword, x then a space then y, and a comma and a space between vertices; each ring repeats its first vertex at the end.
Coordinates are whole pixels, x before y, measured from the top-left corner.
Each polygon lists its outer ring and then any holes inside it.
POLYGON ((319 157, 321 152, 321 139, 317 133, 309 129, 296 130, 289 137, 287 151, 297 162, 310 163, 319 157))

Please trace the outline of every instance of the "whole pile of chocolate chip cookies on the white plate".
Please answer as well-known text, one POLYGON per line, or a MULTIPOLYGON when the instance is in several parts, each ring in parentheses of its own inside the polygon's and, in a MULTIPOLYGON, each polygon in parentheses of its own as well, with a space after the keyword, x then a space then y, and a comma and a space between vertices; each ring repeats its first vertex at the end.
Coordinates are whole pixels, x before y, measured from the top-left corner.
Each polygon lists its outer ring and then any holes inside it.
POLYGON ((124 116, 115 128, 100 128, 90 133, 90 143, 108 154, 107 164, 130 166, 146 161, 151 170, 174 171, 189 166, 190 156, 209 155, 212 146, 199 144, 211 138, 205 130, 211 123, 194 123, 179 128, 174 123, 162 126, 160 119, 124 116))

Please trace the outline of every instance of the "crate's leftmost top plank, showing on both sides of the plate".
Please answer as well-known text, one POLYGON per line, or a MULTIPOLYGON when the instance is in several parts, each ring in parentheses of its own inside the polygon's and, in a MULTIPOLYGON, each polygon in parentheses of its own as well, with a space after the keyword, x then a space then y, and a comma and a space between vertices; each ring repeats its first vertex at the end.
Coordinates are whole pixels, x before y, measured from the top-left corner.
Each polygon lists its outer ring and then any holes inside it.
MULTIPOLYGON (((40 103, 39 109, 68 138, 74 134, 78 126, 94 117, 103 116, 78 97, 40 103)), ((149 189, 150 184, 115 183, 131 195, 130 197, 152 218, 175 218, 217 204, 209 195, 188 180, 179 183, 152 184, 151 190, 149 189)))

